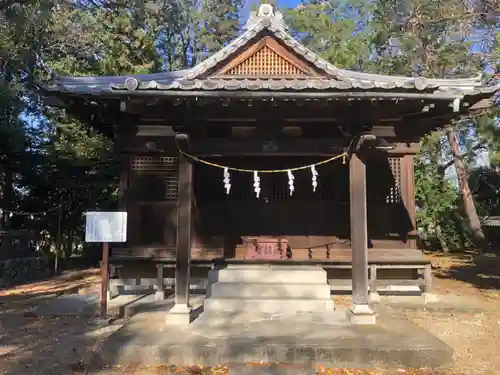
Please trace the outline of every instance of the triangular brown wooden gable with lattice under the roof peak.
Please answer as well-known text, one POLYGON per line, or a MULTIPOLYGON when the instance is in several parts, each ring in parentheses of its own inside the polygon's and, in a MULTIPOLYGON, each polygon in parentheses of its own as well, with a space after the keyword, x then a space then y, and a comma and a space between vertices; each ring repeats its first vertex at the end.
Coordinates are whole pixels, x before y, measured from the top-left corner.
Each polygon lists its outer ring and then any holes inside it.
POLYGON ((310 78, 323 76, 301 56, 272 36, 264 36, 235 57, 222 62, 213 77, 310 78))

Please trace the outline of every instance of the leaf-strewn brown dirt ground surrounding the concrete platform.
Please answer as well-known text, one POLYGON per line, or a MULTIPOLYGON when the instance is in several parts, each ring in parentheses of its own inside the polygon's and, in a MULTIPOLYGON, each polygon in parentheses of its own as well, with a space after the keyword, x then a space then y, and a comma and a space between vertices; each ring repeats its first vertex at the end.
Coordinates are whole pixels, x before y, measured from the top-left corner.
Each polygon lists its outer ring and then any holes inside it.
MULTIPOLYGON (((500 368, 500 257, 461 254, 429 256, 434 268, 436 294, 471 297, 484 311, 445 312, 405 310, 408 318, 453 348, 454 364, 440 370, 316 369, 327 374, 494 374, 500 368)), ((167 375, 172 373, 227 374, 227 367, 201 368, 172 365, 154 368, 105 367, 92 363, 97 343, 114 325, 96 326, 85 317, 41 318, 33 308, 50 296, 99 290, 99 271, 68 272, 50 280, 0 290, 0 374, 167 375), (79 341, 73 337, 84 337, 79 341)), ((338 297, 344 305, 349 297, 338 297)), ((448 310, 446 310, 448 311, 448 310)), ((116 326, 118 327, 118 326, 116 326)), ((117 328, 116 328, 117 329, 117 328)))

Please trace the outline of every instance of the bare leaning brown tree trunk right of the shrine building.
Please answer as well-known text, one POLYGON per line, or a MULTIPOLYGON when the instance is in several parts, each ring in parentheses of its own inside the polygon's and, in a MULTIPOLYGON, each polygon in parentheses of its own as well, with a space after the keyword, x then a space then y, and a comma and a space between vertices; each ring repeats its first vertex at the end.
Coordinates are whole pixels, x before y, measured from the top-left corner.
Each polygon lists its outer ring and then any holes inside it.
POLYGON ((474 245, 481 252, 487 252, 489 250, 488 241, 486 241, 486 237, 481 229, 481 221, 479 220, 476 205, 474 204, 474 198, 472 197, 472 193, 469 188, 465 163, 462 160, 458 149, 457 134, 453 127, 448 126, 446 128, 446 135, 448 137, 448 142, 450 143, 453 163, 455 164, 455 169, 457 171, 458 183, 460 185, 460 189, 462 190, 464 210, 472 231, 472 240, 474 241, 474 245))

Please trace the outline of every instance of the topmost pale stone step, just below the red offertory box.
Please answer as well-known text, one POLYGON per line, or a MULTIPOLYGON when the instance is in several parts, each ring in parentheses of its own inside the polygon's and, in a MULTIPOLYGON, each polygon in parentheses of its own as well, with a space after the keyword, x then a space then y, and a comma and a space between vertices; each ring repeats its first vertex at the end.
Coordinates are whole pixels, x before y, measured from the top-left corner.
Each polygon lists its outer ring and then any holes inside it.
POLYGON ((235 267, 210 271, 211 282, 271 283, 271 284, 326 284, 326 271, 322 268, 235 267))

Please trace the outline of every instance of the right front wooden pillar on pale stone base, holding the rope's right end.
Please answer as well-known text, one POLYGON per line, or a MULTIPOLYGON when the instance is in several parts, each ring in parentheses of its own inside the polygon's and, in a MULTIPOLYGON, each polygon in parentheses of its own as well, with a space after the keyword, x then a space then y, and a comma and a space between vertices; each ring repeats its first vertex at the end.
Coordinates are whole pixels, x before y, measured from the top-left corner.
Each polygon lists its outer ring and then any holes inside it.
POLYGON ((374 324, 375 315, 368 306, 366 165, 358 153, 353 153, 349 160, 349 197, 353 302, 349 316, 355 324, 374 324))

